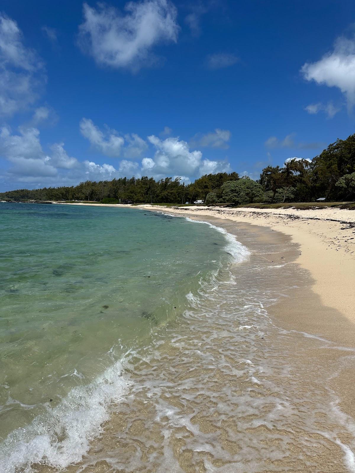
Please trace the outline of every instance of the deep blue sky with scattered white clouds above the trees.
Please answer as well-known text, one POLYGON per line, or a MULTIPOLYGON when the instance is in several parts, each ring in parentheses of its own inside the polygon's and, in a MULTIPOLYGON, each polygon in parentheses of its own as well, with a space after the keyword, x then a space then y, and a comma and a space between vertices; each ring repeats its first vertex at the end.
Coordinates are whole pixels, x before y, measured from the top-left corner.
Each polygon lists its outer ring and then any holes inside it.
POLYGON ((1 1, 0 191, 257 179, 354 105, 354 1, 1 1))

